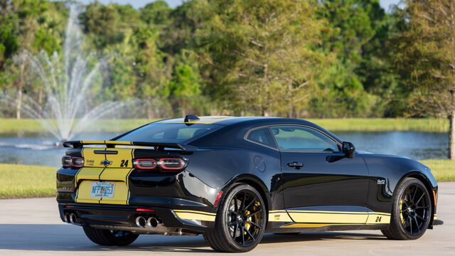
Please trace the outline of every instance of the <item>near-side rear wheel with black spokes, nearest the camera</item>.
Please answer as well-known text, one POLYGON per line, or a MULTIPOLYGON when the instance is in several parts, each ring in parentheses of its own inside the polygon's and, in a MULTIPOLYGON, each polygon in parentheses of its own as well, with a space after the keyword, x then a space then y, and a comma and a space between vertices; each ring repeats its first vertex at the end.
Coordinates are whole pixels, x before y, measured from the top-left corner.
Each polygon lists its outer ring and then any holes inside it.
POLYGON ((205 242, 218 252, 248 252, 264 236, 267 209, 255 188, 233 186, 218 207, 215 228, 204 233, 205 242))

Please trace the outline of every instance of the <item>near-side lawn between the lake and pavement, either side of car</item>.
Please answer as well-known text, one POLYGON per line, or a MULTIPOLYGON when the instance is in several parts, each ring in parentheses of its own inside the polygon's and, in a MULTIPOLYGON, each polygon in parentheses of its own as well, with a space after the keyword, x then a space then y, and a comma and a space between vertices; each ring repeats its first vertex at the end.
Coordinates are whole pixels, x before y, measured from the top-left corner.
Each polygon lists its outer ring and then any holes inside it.
MULTIPOLYGON (((424 160, 438 181, 455 181, 455 161, 424 160)), ((0 164, 0 199, 55 196, 55 167, 0 164)))

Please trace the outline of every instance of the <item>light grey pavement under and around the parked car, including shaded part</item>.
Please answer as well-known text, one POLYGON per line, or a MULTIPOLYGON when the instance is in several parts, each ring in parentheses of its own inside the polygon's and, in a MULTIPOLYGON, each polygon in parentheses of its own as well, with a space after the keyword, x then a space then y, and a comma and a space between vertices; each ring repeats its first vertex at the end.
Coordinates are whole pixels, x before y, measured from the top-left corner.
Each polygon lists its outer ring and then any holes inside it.
MULTIPOLYGON (((455 255, 455 182, 439 183, 444 225, 419 240, 387 240, 380 231, 267 234, 242 255, 455 255)), ((202 235, 140 235, 126 247, 93 244, 82 228, 58 217, 55 198, 0 200, 0 255, 214 255, 202 235)))

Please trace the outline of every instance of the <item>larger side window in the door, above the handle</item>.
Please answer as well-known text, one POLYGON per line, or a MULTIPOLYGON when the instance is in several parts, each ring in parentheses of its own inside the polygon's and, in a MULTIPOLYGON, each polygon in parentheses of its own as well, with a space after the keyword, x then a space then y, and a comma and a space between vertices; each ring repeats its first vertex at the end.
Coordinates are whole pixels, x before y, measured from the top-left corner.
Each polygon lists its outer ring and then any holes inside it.
POLYGON ((281 150, 289 151, 339 151, 332 139, 315 129, 300 126, 270 127, 281 150))

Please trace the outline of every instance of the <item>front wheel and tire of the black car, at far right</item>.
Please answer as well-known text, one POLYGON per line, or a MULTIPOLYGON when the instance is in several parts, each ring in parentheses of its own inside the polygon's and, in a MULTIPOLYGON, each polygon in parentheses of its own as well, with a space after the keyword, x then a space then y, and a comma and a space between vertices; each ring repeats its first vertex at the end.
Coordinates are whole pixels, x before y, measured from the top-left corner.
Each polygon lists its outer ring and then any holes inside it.
POLYGON ((381 230, 393 240, 415 240, 428 228, 432 215, 429 191, 417 178, 405 178, 393 196, 392 215, 387 230, 381 230))

